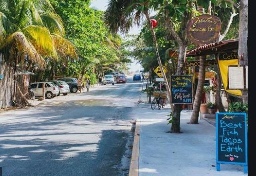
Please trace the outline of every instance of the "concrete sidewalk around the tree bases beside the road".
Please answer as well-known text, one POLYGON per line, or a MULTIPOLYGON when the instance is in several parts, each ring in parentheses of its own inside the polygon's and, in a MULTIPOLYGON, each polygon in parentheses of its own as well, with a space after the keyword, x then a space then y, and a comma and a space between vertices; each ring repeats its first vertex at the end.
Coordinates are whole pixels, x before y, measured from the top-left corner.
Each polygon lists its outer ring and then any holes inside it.
POLYGON ((183 133, 167 133, 170 109, 151 110, 143 102, 136 114, 133 151, 137 154, 133 152, 129 176, 247 176, 240 165, 220 164, 221 171, 216 171, 214 125, 204 119, 187 124, 191 111, 183 110, 183 133))

